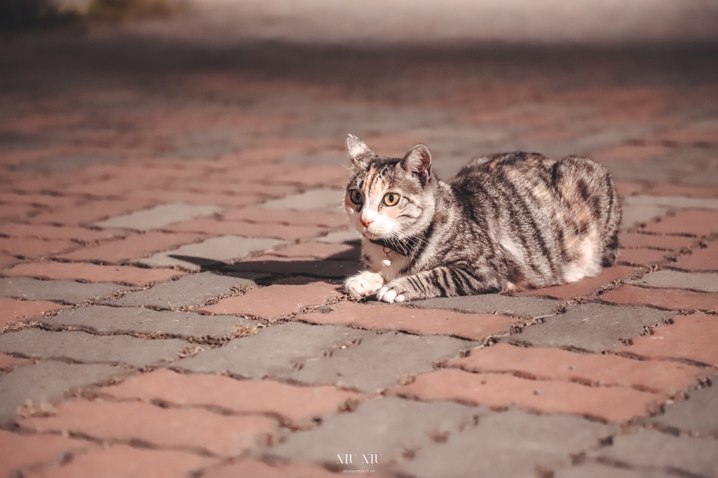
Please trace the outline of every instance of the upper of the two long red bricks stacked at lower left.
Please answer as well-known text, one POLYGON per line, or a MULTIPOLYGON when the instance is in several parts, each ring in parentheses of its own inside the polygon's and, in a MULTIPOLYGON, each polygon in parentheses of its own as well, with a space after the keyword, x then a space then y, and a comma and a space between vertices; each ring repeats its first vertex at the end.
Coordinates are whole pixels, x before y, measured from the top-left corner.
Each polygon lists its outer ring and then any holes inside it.
POLYGON ((141 401, 159 398, 177 405, 212 405, 253 414, 271 413, 292 420, 335 411, 346 400, 363 397, 333 386, 301 387, 216 375, 183 375, 169 370, 134 376, 119 385, 102 388, 100 393, 141 401))

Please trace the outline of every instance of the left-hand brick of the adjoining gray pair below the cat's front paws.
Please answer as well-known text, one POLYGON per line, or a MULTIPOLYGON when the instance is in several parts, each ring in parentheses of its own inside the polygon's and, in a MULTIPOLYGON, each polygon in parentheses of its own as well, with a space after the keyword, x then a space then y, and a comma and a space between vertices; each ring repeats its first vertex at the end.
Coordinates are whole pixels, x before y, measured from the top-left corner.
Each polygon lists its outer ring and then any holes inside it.
POLYGON ((261 328, 256 335, 205 350, 173 368, 197 373, 224 373, 246 378, 290 378, 307 360, 317 360, 342 345, 353 346, 373 333, 341 325, 288 322, 261 328))

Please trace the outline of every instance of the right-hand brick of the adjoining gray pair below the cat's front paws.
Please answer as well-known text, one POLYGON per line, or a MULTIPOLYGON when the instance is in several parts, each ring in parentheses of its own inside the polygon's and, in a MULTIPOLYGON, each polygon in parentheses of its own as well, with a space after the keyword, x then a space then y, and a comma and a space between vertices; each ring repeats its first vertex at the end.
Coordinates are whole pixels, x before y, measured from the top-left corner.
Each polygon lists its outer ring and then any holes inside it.
POLYGON ((307 362, 292 378, 373 392, 398 386, 401 378, 432 371, 434 363, 457 358, 477 345, 440 335, 375 333, 357 345, 334 350, 328 358, 307 362))

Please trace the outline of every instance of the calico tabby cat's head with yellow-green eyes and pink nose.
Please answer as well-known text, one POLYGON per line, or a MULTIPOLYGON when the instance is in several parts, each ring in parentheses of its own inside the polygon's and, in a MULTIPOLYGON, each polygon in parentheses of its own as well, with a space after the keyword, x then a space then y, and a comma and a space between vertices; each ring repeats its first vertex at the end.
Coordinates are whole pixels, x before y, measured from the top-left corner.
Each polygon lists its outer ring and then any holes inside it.
POLYGON ((352 168, 344 205, 357 231, 368 239, 405 239, 429 226, 436 181, 426 146, 383 158, 349 135, 347 152, 352 168))

